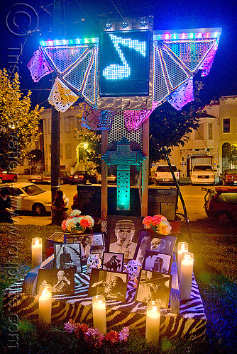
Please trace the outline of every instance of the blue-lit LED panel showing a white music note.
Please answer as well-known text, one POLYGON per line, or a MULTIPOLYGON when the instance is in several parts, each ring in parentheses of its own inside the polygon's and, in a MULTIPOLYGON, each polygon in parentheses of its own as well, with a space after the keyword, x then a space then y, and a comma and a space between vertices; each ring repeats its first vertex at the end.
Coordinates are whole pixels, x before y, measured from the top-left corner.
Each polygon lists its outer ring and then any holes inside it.
POLYGON ((148 96, 149 31, 101 33, 100 96, 148 96))

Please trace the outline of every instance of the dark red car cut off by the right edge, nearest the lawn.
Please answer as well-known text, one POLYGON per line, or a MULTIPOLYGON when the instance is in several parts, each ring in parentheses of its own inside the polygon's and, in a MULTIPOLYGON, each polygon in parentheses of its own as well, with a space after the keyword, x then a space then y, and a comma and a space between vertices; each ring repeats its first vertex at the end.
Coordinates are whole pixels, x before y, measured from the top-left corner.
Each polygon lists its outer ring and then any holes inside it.
POLYGON ((237 187, 216 186, 206 190, 205 212, 219 224, 226 225, 237 221, 237 187))

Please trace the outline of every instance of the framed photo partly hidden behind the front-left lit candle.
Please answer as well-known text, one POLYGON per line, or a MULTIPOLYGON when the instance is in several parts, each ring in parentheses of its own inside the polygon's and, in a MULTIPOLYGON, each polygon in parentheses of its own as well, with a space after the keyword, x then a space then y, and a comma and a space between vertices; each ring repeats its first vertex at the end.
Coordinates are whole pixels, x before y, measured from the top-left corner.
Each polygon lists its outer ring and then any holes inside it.
POLYGON ((71 268, 62 269, 43 269, 38 270, 37 288, 39 291, 40 285, 44 282, 52 286, 53 295, 70 294, 75 291, 75 271, 71 268))

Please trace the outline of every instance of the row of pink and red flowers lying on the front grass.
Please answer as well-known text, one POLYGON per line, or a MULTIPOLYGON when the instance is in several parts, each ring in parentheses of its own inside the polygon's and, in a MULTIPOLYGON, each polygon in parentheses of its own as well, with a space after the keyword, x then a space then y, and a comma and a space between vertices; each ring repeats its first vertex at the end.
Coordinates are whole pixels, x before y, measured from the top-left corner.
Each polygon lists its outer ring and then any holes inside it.
POLYGON ((87 324, 78 324, 74 320, 70 319, 64 324, 65 331, 67 333, 74 333, 79 339, 84 339, 89 345, 99 348, 103 343, 111 343, 111 345, 127 341, 129 336, 129 326, 123 327, 120 332, 109 331, 104 335, 99 329, 90 329, 87 324))

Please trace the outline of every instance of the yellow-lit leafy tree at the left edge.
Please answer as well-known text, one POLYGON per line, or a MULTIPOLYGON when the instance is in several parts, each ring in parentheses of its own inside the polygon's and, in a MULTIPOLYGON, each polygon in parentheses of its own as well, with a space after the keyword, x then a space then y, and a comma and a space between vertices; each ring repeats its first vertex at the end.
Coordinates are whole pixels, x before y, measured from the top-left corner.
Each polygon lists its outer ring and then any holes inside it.
POLYGON ((31 91, 26 96, 20 91, 16 73, 10 81, 6 69, 0 70, 0 165, 12 170, 26 157, 38 140, 38 122, 43 108, 31 109, 31 91))

